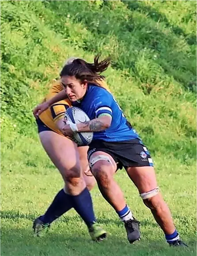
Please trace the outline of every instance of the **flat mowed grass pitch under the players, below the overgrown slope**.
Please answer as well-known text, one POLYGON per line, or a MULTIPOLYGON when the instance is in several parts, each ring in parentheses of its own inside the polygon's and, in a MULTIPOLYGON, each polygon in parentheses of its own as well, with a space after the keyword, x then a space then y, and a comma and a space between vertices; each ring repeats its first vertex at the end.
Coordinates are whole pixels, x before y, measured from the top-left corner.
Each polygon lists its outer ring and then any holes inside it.
POLYGON ((123 224, 97 187, 91 194, 96 216, 109 233, 107 240, 92 242, 74 210, 54 222, 46 237, 34 237, 32 221, 44 213, 62 188, 61 177, 36 138, 18 137, 11 147, 2 143, 1 152, 2 256, 196 255, 195 162, 187 167, 170 154, 153 157, 160 189, 182 239, 189 244, 189 248, 169 248, 124 170, 117 172, 116 179, 128 205, 141 221, 140 242, 133 245, 127 242, 123 224))

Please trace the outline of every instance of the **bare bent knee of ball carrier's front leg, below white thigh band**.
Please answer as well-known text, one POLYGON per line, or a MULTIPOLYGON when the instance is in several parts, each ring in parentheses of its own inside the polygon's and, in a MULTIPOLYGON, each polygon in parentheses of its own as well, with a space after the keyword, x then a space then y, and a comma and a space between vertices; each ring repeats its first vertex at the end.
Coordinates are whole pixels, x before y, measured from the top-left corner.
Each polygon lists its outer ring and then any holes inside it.
POLYGON ((93 168, 92 173, 95 176, 97 182, 102 185, 102 187, 109 187, 112 176, 106 167, 93 168))

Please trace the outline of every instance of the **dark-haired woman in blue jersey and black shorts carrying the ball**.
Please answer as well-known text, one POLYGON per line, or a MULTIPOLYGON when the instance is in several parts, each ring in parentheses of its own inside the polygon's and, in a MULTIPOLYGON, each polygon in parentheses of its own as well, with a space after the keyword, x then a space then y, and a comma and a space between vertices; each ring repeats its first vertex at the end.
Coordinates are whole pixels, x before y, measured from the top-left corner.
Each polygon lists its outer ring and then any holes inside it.
POLYGON ((167 242, 172 246, 187 246, 180 240, 170 210, 159 192, 147 147, 126 120, 112 94, 96 83, 104 78, 99 71, 107 69, 109 64, 109 59, 99 63, 97 56, 93 64, 76 59, 61 70, 61 82, 72 105, 82 109, 91 119, 80 124, 65 124, 64 135, 94 132, 88 150, 89 165, 103 197, 124 221, 130 243, 140 239, 139 221, 133 217, 113 178, 122 167, 139 190, 144 204, 151 209, 167 242))

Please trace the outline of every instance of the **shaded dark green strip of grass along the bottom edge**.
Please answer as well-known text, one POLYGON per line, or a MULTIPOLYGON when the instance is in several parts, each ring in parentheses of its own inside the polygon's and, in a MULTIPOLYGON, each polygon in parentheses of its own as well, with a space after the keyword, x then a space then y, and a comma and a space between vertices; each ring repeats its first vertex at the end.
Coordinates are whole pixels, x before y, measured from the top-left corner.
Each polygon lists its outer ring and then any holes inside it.
MULTIPOLYGON (((80 226, 50 231, 45 237, 34 237, 27 223, 1 227, 1 255, 3 256, 194 256, 195 241, 189 248, 170 248, 161 240, 144 240, 129 244, 120 234, 111 234, 105 241, 95 243, 80 226), (11 227, 10 227, 11 226, 11 227), (78 231, 79 230, 79 231, 78 231)), ((188 242, 188 241, 187 241, 188 242)))

